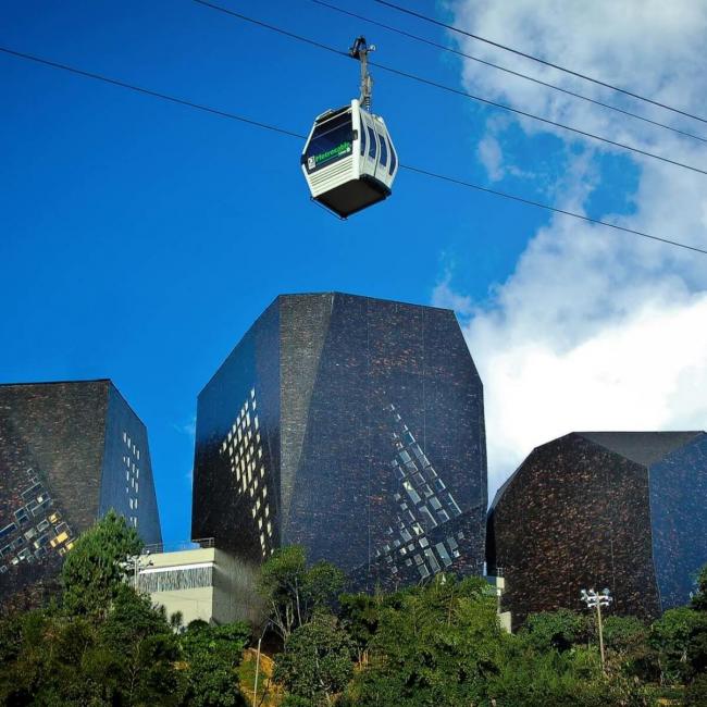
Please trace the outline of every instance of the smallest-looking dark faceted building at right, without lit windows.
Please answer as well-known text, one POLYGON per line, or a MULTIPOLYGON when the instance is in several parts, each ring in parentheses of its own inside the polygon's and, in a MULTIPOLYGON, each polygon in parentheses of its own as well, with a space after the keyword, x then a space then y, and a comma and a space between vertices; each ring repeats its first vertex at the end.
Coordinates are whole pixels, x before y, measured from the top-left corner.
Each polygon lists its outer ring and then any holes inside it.
POLYGON ((573 432, 535 448, 496 494, 488 571, 507 580, 514 625, 604 587, 612 611, 652 619, 690 600, 705 509, 704 432, 573 432))

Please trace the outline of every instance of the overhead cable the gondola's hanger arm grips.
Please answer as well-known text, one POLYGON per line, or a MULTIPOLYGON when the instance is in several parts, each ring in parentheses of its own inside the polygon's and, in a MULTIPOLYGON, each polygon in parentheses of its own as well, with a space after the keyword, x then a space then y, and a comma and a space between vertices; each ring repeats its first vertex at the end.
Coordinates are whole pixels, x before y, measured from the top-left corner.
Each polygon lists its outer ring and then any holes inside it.
MULTIPOLYGON (((342 51, 340 49, 336 49, 335 47, 331 47, 328 45, 325 45, 321 41, 317 41, 315 39, 310 39, 309 37, 303 37, 301 35, 297 35, 294 32, 289 32, 287 29, 283 29, 282 27, 276 27, 275 25, 268 24, 266 22, 262 22, 260 20, 256 20, 253 17, 249 17, 248 15, 240 14, 239 12, 236 12, 235 10, 230 10, 227 8, 222 8, 221 5, 213 4, 212 2, 208 2, 207 0, 193 0, 194 2, 203 5, 206 8, 209 8, 211 10, 216 10, 219 12, 222 12, 226 15, 230 15, 232 17, 236 17, 237 20, 243 20, 244 22, 249 22, 253 25, 257 25, 259 27, 262 27, 263 29, 268 29, 270 32, 274 32, 276 34, 283 35, 285 37, 289 37, 290 39, 295 39, 297 41, 305 42, 307 45, 310 45, 312 47, 317 47, 318 49, 324 49, 325 51, 330 51, 334 54, 338 54, 339 57, 346 57, 347 59, 350 59, 348 52, 342 51)), ((444 91, 448 91, 450 94, 456 94, 457 96, 463 96, 464 98, 471 98, 472 100, 479 101, 480 103, 485 103, 486 106, 492 106, 494 108, 498 108, 505 111, 510 111, 511 113, 516 113, 517 115, 522 115, 523 117, 530 117, 534 121, 538 121, 541 123, 545 123, 546 125, 553 125, 554 127, 559 127, 563 131, 568 131, 570 133, 574 133, 575 135, 581 135, 583 137, 588 137, 593 140, 597 140, 599 142, 604 142, 606 145, 611 145, 612 147, 618 147, 623 150, 629 150, 630 152, 635 152, 636 154, 643 154, 644 157, 649 157, 654 160, 659 160, 660 162, 665 162, 667 164, 673 164, 674 166, 682 168, 684 170, 690 170, 691 172, 697 172, 698 174, 704 174, 707 175, 707 170, 703 170, 697 166, 693 166, 692 164, 686 164, 684 162, 679 162, 678 160, 671 160, 670 158, 662 157, 660 154, 656 154, 655 152, 648 152, 647 150, 642 150, 638 147, 634 147, 632 145, 627 145, 625 142, 619 142, 617 140, 611 140, 608 137, 601 137, 600 135, 596 135, 595 133, 590 133, 588 131, 582 131, 579 127, 572 127, 571 125, 565 125, 563 123, 558 123, 557 121, 553 121, 548 117, 542 117, 539 115, 534 115, 533 113, 529 113, 526 111, 522 111, 519 108, 513 108, 512 106, 506 106, 505 103, 499 103, 497 101, 492 101, 487 98, 481 98, 481 96, 474 96, 473 94, 469 94, 464 90, 461 90, 460 88, 454 88, 451 86, 446 86, 445 84, 439 84, 437 82, 434 82, 430 78, 423 78, 422 76, 418 76, 417 74, 411 74, 409 72, 402 71, 400 69, 394 69, 393 66, 386 66, 385 64, 381 64, 379 62, 373 62, 369 61, 370 66, 376 66, 377 69, 381 69, 383 71, 387 71, 390 74, 396 74, 397 76, 402 76, 405 78, 409 78, 410 80, 415 80, 420 84, 424 84, 426 86, 432 86, 434 88, 438 88, 444 91)))

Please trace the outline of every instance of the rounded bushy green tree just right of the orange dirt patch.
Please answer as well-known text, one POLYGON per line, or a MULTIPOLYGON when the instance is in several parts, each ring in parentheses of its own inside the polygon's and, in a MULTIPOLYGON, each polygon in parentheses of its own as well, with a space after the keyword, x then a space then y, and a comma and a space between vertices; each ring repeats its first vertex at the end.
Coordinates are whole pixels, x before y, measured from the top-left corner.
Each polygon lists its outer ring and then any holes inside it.
POLYGON ((275 657, 273 677, 300 700, 332 705, 351 679, 352 653, 336 617, 318 612, 287 637, 285 652, 275 657))

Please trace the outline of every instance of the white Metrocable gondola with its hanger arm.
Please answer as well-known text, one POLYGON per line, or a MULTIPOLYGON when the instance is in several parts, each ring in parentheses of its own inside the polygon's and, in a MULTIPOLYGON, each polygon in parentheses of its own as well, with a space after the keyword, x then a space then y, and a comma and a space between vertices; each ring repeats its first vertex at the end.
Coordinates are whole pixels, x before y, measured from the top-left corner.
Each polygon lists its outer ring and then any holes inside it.
POLYGON ((374 49, 363 37, 355 41, 349 53, 361 62, 361 96, 317 116, 301 157, 312 199, 342 219, 389 197, 398 171, 388 129, 371 112, 368 53, 374 49))

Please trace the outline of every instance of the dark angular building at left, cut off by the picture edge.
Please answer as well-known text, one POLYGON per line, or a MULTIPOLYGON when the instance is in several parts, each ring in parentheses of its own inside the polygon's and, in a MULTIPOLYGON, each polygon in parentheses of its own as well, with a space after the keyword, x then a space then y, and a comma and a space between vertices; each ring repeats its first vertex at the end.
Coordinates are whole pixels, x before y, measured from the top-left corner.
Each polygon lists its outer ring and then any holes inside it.
POLYGON ((111 508, 161 542, 147 430, 115 386, 0 385, 0 605, 53 588, 77 534, 111 508))

